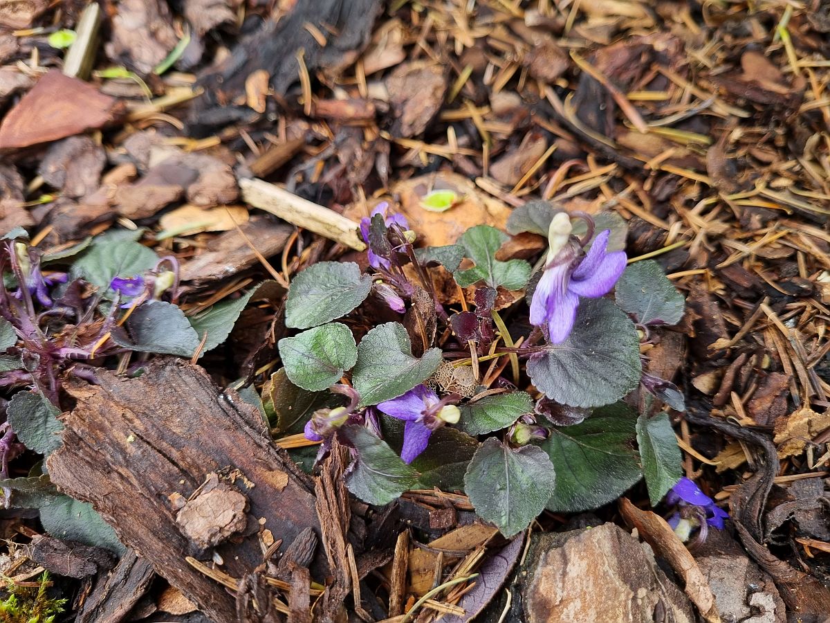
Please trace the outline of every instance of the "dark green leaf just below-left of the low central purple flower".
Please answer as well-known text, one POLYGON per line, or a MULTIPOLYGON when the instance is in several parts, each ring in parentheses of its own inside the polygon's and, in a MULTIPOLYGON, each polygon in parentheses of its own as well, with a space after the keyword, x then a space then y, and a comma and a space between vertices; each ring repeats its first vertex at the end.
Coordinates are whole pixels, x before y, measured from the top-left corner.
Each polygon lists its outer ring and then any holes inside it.
POLYGON ((383 506, 415 486, 418 473, 386 442, 363 426, 345 426, 341 430, 358 453, 346 477, 349 491, 354 495, 366 503, 383 506))

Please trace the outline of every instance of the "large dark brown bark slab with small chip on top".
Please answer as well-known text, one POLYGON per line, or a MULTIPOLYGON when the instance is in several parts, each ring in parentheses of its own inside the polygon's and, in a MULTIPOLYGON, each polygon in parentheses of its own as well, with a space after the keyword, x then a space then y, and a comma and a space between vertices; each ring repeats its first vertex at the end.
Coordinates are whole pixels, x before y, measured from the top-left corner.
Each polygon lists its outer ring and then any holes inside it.
POLYGON ((262 562, 259 529, 283 539, 283 551, 306 527, 319 535, 313 484, 271 444, 256 410, 196 365, 161 359, 138 378, 102 371, 99 381, 67 386, 76 408, 48 460, 52 481, 92 503, 207 616, 235 621, 236 597, 185 558, 217 552, 221 570, 242 578, 262 562), (193 505, 207 512, 188 513, 193 505))

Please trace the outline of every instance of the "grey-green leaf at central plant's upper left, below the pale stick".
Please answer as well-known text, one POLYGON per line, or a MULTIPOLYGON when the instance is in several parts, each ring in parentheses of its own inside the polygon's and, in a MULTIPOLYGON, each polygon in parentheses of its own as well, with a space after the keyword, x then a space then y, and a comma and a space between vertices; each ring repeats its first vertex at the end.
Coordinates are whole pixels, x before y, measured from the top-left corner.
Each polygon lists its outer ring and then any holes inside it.
POLYGON ((317 262, 291 281, 286 326, 308 329, 351 312, 369 296, 372 277, 354 262, 317 262))

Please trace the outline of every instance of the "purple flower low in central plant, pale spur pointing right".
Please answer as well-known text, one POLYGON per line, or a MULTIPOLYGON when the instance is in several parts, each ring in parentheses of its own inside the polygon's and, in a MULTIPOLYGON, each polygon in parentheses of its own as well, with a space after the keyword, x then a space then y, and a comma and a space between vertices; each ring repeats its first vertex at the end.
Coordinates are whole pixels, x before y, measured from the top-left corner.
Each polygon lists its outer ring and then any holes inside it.
POLYGON ((444 424, 458 423, 461 410, 452 405, 455 400, 457 395, 439 399, 426 385, 416 385, 406 394, 378 405, 379 411, 406 422, 401 449, 404 463, 412 463, 418 454, 427 449, 433 430, 440 429, 444 424))

